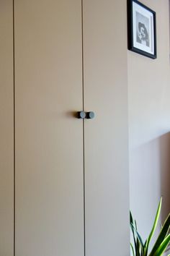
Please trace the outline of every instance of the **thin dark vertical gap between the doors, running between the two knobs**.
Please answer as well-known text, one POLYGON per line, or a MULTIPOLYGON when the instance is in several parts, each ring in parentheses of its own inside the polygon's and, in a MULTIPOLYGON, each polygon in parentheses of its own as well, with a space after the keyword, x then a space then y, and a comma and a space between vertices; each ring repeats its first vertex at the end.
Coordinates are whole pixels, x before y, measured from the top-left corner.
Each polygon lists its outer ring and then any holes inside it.
MULTIPOLYGON (((81 59, 82 59, 82 102, 84 111, 84 1, 81 0, 81 59)), ((85 127, 83 119, 83 176, 84 176, 84 256, 86 256, 86 189, 85 189, 85 127)))

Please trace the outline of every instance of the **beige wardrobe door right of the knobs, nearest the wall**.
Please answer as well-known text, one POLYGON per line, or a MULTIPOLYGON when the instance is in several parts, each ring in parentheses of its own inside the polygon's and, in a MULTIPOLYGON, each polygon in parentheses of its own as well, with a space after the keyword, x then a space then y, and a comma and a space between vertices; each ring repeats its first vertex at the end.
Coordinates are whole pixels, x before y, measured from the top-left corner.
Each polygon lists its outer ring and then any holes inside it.
POLYGON ((86 256, 129 255, 126 1, 84 1, 86 256))

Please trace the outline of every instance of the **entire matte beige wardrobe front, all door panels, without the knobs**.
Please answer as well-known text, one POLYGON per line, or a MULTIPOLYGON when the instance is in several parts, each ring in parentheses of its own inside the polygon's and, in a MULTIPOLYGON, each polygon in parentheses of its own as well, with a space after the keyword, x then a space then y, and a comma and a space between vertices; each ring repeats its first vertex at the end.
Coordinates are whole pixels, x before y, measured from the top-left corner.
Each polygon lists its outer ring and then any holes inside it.
POLYGON ((128 256, 126 1, 5 7, 0 255, 128 256))

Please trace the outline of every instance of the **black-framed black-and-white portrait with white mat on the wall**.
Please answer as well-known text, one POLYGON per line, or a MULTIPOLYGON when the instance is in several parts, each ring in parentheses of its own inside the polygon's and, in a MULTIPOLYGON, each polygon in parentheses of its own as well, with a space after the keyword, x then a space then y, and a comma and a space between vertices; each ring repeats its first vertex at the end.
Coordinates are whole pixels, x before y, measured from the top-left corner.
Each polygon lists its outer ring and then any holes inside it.
POLYGON ((128 49, 156 59, 156 12, 128 0, 128 49))

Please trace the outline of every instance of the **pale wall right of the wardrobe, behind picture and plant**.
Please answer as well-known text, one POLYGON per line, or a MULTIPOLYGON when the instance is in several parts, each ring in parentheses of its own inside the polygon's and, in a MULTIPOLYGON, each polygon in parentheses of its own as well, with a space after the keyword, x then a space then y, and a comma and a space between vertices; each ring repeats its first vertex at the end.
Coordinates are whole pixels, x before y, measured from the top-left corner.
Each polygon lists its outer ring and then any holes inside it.
POLYGON ((143 0, 156 11, 156 60, 128 51, 130 208, 141 234, 151 229, 158 200, 170 210, 169 1, 143 0))

